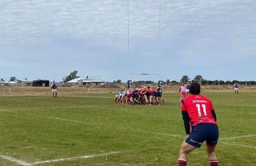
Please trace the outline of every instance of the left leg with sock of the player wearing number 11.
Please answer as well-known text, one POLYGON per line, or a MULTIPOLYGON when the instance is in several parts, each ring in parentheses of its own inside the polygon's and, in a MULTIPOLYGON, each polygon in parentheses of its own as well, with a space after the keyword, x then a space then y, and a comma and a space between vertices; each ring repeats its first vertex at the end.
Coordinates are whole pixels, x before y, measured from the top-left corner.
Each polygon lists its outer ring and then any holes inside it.
POLYGON ((179 166, 187 165, 187 155, 194 150, 196 147, 183 141, 180 149, 180 156, 178 159, 179 166))

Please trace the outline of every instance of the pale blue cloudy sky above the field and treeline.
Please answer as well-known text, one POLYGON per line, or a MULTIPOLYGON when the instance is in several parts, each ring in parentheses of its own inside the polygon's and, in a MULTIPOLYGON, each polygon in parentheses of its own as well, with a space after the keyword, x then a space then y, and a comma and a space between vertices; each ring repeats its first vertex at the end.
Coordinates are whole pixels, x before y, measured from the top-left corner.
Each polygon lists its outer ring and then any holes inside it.
MULTIPOLYGON (((130 73, 159 73, 160 47, 160 80, 256 80, 255 9, 255 0, 161 0, 159 18, 158 0, 129 0, 130 73)), ((127 23, 127 0, 1 0, 0 78, 59 82, 77 70, 126 82, 127 23)))

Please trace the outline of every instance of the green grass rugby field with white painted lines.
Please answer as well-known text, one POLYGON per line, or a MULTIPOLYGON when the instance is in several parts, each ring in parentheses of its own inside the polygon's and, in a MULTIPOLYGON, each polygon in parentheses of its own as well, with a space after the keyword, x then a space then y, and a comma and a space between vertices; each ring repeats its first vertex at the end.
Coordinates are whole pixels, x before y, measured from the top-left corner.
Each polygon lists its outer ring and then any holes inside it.
MULTIPOLYGON (((256 165, 256 94, 205 92, 221 166, 256 165)), ((0 96, 0 165, 177 165, 185 130, 178 93, 166 105, 120 105, 114 94, 0 96)), ((205 144, 188 156, 207 166, 205 144)))

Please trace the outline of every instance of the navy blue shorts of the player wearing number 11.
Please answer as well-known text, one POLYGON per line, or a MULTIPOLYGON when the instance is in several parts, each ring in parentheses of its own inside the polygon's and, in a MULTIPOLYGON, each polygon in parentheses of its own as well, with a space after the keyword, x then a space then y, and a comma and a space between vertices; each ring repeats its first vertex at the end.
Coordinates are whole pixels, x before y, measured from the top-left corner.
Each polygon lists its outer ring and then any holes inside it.
POLYGON ((185 142, 196 147, 201 147, 202 143, 206 141, 209 147, 215 147, 218 143, 219 129, 217 124, 198 124, 192 128, 189 137, 185 142))

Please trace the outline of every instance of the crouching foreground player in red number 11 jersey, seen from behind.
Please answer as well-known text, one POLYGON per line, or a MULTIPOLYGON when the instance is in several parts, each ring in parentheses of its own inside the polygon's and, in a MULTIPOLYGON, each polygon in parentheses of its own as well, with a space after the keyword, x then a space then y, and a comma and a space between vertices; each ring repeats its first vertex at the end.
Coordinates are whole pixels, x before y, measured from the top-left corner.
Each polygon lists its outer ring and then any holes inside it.
POLYGON ((218 166, 214 153, 219 138, 216 115, 211 101, 200 95, 200 85, 190 85, 190 96, 181 100, 182 118, 187 138, 184 140, 178 159, 179 166, 187 166, 187 155, 206 141, 206 152, 211 166, 218 166), (192 131, 190 132, 190 126, 192 131))

